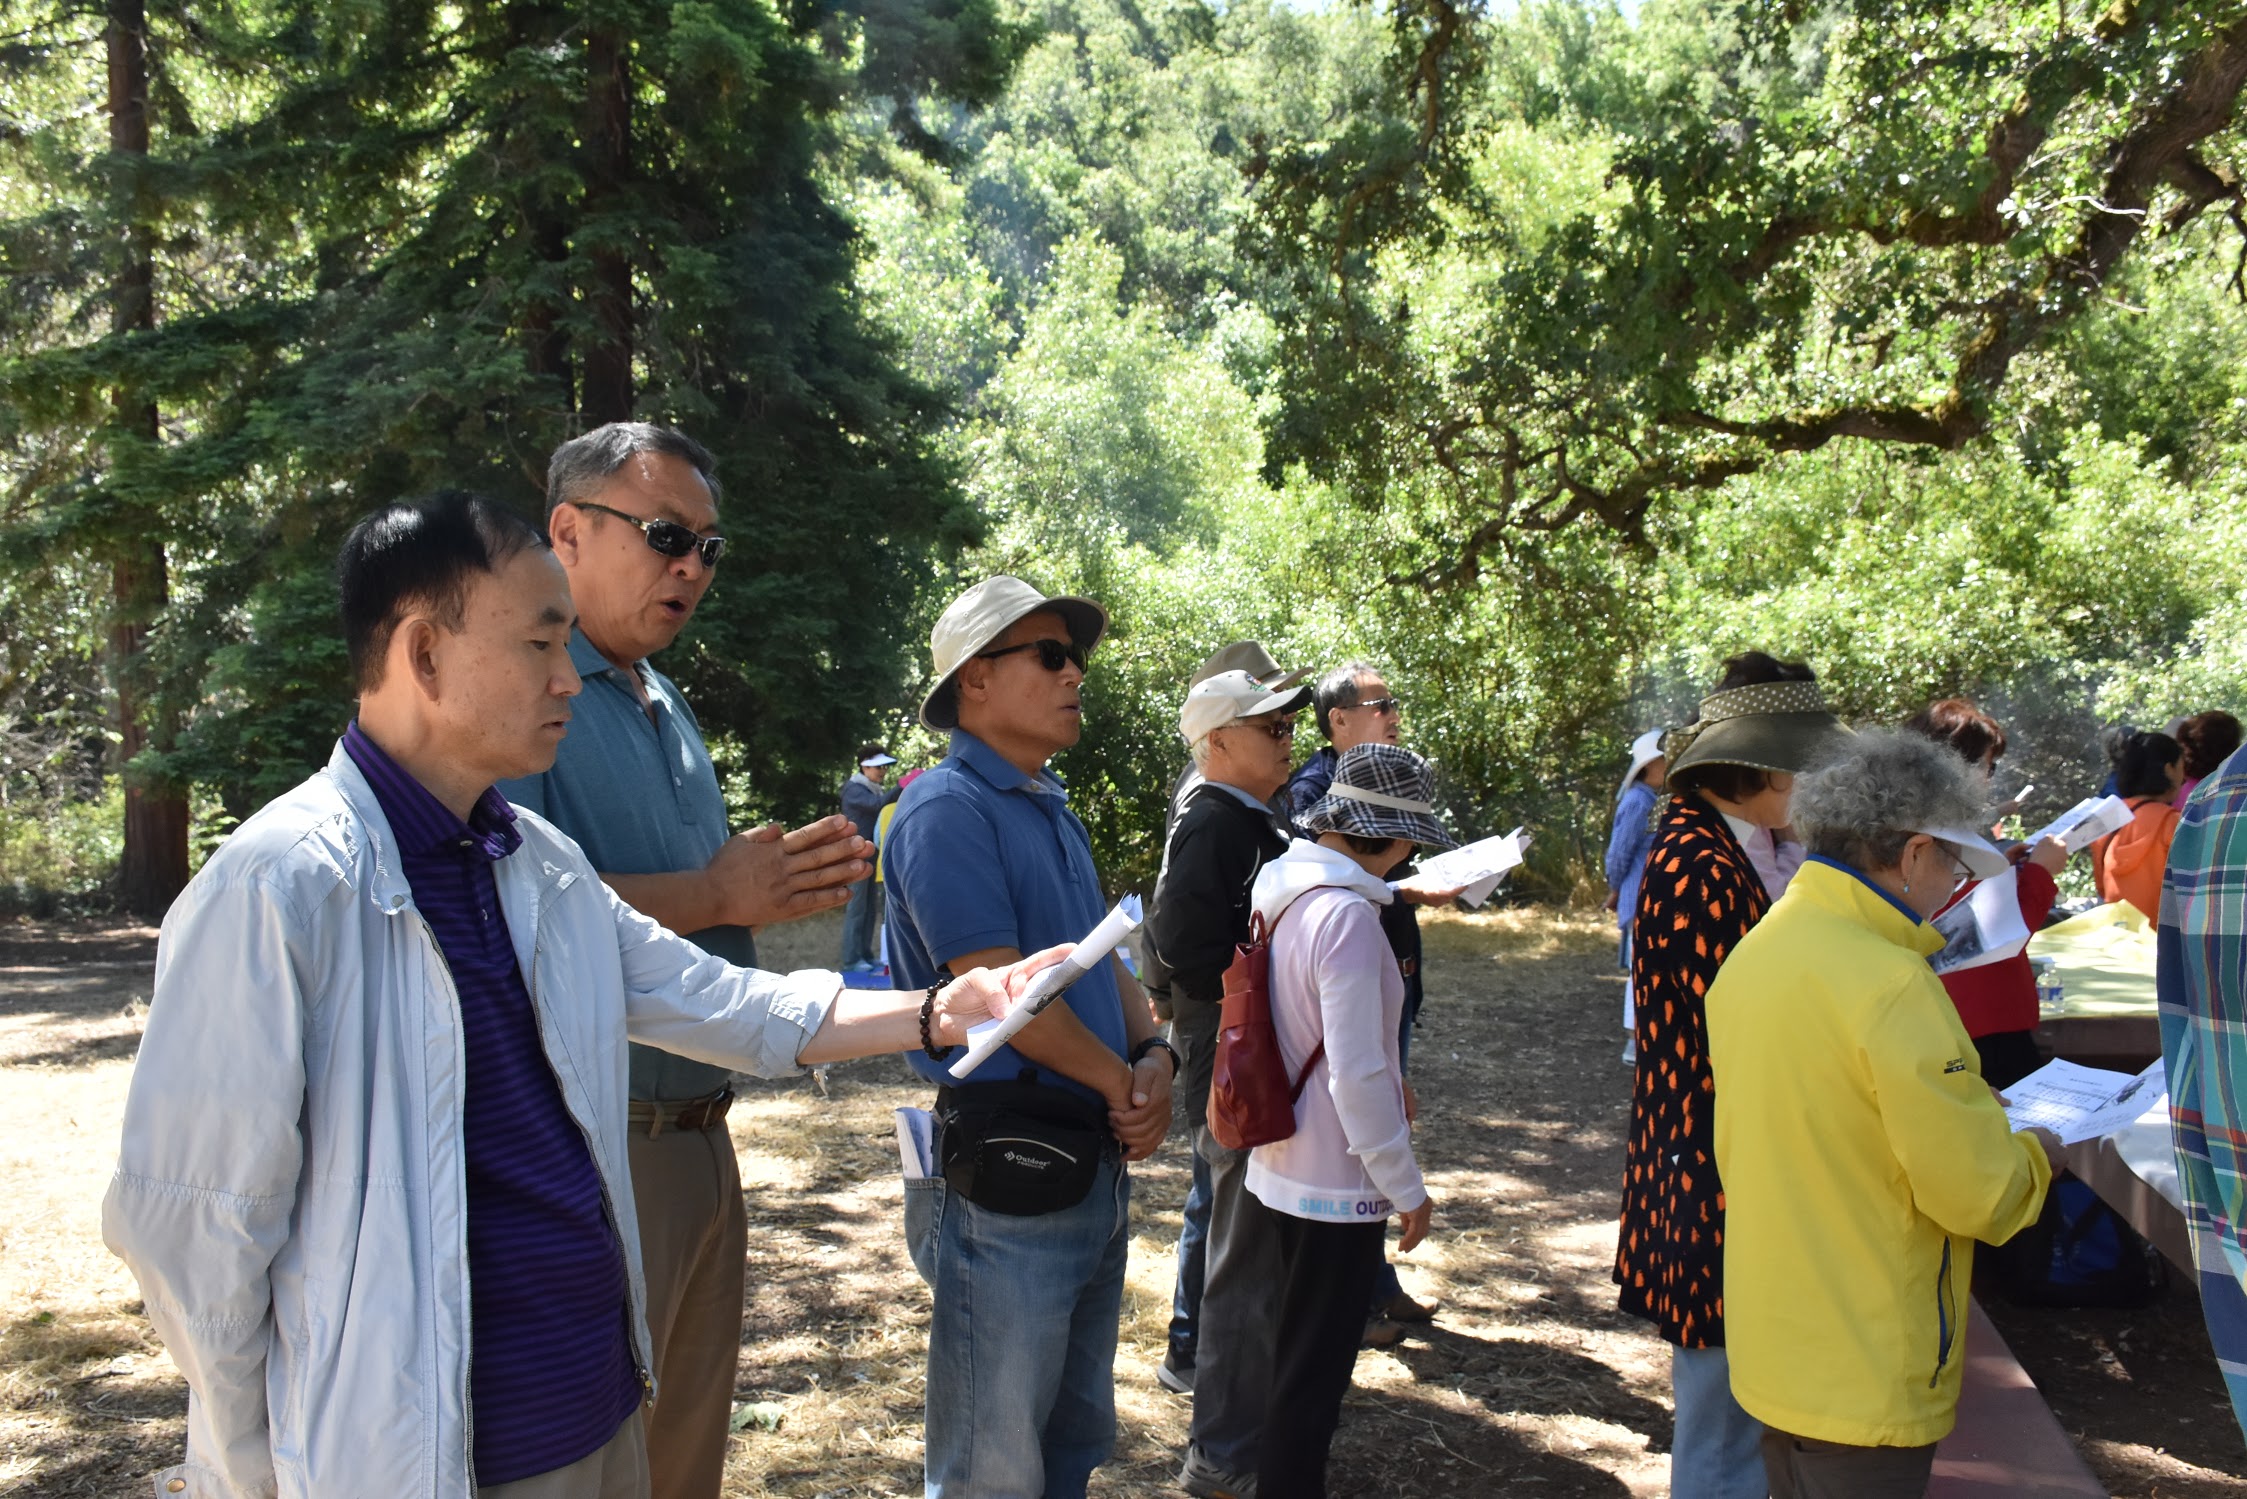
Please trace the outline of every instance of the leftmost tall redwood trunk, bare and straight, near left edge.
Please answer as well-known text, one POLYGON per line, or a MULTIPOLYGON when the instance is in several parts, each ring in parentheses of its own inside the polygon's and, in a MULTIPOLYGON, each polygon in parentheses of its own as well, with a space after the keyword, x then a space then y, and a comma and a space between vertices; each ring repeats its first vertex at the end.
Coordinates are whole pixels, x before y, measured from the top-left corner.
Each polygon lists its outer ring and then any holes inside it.
MULTIPOLYGON (((110 151, 148 155, 148 16, 142 0, 108 0, 110 151)), ((121 256, 112 283, 110 330, 155 328, 155 234, 135 182, 119 189, 121 256)), ((110 393, 112 443, 155 443, 157 409, 137 391, 110 393)), ((151 724, 142 649, 148 620, 166 600, 164 544, 153 526, 126 526, 110 560, 110 679, 117 688, 117 757, 126 769, 126 852, 119 899, 142 917, 162 917, 187 885, 187 796, 169 782, 142 782, 130 762, 144 748, 169 748, 171 724, 151 724), (153 733, 151 733, 153 730, 153 733)))

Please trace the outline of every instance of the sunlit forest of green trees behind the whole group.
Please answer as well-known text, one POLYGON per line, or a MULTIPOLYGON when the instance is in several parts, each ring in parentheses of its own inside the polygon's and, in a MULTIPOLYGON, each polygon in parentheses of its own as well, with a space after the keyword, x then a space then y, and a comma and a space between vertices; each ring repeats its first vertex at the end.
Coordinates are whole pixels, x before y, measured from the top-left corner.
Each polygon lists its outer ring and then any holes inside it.
POLYGON ((351 521, 625 416, 719 456, 744 823, 941 753, 991 571, 1115 616, 1117 885, 1240 636, 1532 894, 1744 647, 2065 807, 2247 712, 2243 81, 2157 0, 0 0, 0 901, 162 910, 348 717, 351 521))

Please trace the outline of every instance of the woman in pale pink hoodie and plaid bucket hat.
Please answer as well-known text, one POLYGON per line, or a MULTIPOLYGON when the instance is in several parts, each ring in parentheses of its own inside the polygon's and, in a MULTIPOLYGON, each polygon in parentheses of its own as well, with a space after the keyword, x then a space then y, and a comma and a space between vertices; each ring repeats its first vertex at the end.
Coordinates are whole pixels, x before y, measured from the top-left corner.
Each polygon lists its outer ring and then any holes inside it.
POLYGON ((1350 1387, 1389 1216, 1400 1250, 1427 1234, 1431 1202, 1411 1153, 1398 1065, 1404 978, 1382 935, 1382 872, 1411 843, 1452 847, 1436 823, 1434 771, 1395 744, 1357 744, 1297 838, 1256 874, 1272 933, 1272 1029, 1288 1076, 1303 1079, 1294 1135, 1249 1155, 1247 1211, 1281 1245, 1272 1396, 1256 1492, 1326 1495, 1326 1450, 1350 1387), (1308 1076, 1306 1076, 1308 1068, 1308 1076))

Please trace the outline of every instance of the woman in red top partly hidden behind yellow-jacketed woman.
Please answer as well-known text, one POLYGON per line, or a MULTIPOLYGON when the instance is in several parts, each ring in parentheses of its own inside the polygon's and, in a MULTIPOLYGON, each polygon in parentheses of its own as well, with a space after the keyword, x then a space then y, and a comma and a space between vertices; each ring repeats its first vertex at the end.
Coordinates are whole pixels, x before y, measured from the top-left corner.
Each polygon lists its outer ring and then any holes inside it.
MULTIPOLYGON (((1998 771, 2004 755, 2004 728, 1998 719, 1975 708, 1964 697, 1946 697, 1928 703, 1905 724, 1910 733, 1926 735, 1937 744, 1948 744, 1982 771, 1984 778, 1998 771)), ((2058 872, 2067 863, 2067 845, 2045 838, 2034 850, 2016 843, 2007 850, 2013 858, 2013 879, 2020 890, 2020 919, 2034 933, 2052 915, 2060 899, 2058 872)), ((1968 899, 1982 881, 1964 885, 1950 901, 1968 899)), ((1948 910, 1948 908, 1946 908, 1948 910)), ((1982 1056, 1982 1081, 1991 1088, 2011 1088, 2045 1065, 2036 1050, 2036 971, 2027 953, 1980 969, 1944 973, 1944 989, 1973 1036, 1973 1050, 1982 1056)))

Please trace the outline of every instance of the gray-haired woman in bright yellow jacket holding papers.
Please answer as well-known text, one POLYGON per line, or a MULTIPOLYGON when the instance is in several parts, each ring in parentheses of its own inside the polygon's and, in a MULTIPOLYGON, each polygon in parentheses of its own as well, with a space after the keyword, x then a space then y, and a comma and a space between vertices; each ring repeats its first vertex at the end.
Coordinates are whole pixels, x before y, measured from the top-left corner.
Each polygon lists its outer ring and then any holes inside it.
POLYGON ((2036 1220, 2016 1133, 1928 969, 1926 919, 2004 872, 1986 789, 1917 735, 1795 778, 1809 861, 1708 991, 1732 1396, 1775 1499, 1919 1495, 1957 1416, 1973 1243, 2036 1220))

